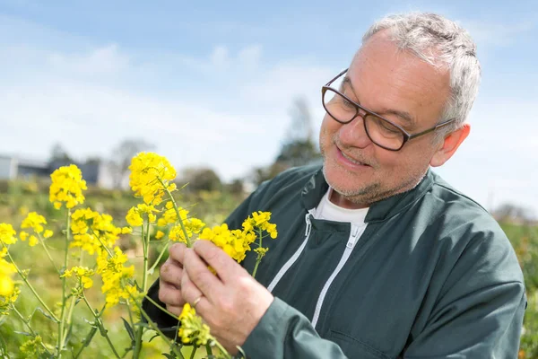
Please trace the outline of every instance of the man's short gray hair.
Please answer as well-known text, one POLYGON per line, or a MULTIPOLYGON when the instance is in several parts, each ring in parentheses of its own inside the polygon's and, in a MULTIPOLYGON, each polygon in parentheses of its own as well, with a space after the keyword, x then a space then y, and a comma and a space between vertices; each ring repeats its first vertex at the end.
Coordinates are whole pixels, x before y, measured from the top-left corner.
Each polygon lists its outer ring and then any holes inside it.
POLYGON ((398 48, 411 51, 432 66, 450 73, 450 96, 439 122, 456 118, 438 131, 436 140, 462 127, 478 94, 481 67, 476 45, 467 31, 435 13, 388 15, 375 22, 362 37, 366 43, 378 31, 390 31, 398 48))

